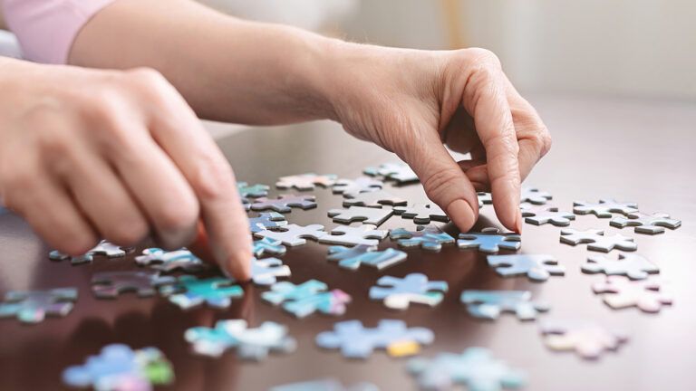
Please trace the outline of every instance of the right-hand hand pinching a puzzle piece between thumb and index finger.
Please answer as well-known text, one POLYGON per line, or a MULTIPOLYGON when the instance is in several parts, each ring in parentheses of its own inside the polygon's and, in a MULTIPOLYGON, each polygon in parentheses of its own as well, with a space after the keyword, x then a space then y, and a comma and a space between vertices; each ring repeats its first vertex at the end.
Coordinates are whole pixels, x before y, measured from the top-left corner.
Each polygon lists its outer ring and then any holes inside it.
POLYGON ((407 162, 462 232, 491 190, 500 222, 521 232, 520 182, 551 147, 536 110, 483 49, 398 50, 336 43, 327 89, 334 119, 407 162), (444 148, 470 153, 455 162, 444 148))

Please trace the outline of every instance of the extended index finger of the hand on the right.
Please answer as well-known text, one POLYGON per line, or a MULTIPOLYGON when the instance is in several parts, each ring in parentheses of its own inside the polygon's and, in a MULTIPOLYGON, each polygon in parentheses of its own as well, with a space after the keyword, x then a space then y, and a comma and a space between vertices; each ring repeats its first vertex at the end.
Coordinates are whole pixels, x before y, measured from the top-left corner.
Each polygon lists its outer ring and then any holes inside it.
POLYGON ((469 76, 463 104, 474 117, 478 137, 486 149, 493 205, 498 218, 508 229, 520 232, 518 146, 505 81, 494 55, 489 52, 477 55, 478 66, 469 76))

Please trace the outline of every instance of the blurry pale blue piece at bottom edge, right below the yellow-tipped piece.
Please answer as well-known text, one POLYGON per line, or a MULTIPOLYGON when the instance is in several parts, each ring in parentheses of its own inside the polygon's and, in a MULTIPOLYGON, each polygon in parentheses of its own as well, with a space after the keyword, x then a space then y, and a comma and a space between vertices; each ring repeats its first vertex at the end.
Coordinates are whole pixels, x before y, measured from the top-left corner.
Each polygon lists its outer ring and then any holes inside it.
POLYGON ((411 358, 409 372, 421 389, 449 390, 456 384, 469 391, 500 391, 524 386, 526 375, 493 358, 487 348, 467 348, 461 354, 440 353, 435 358, 411 358))

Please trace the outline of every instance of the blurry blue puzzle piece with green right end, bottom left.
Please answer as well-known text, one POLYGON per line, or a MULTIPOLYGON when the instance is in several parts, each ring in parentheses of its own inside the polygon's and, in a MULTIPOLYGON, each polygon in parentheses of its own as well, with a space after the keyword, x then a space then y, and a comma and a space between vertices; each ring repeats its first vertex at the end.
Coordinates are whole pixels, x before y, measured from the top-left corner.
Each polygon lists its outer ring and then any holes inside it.
POLYGON ((158 348, 133 351, 126 345, 111 344, 84 365, 63 371, 63 383, 97 391, 145 391, 174 381, 171 364, 158 348))

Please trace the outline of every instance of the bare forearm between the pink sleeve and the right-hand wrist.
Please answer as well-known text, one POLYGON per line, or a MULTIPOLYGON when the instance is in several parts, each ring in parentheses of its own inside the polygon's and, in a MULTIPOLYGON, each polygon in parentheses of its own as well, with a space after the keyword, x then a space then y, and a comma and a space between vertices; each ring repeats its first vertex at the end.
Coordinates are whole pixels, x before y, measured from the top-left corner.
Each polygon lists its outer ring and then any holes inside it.
POLYGON ((78 34, 75 65, 162 72, 198 115, 250 124, 331 118, 326 52, 335 42, 246 22, 189 0, 120 0, 78 34))

